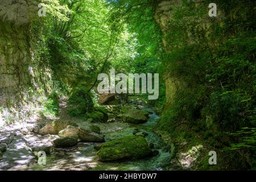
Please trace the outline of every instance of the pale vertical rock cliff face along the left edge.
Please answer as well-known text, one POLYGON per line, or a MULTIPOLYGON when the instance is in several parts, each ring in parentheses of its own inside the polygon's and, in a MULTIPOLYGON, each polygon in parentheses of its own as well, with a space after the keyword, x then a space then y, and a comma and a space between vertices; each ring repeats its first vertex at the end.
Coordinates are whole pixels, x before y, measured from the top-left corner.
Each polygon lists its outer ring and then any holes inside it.
POLYGON ((28 101, 29 90, 36 87, 29 27, 37 9, 36 1, 0 1, 0 126, 33 110, 29 105, 35 100, 28 101))

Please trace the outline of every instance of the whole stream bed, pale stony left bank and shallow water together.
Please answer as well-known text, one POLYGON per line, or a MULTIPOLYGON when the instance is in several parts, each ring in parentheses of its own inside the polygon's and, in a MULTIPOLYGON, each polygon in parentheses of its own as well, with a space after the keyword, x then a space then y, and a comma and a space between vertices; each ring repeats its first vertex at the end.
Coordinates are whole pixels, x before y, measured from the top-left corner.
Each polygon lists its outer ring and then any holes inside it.
MULTIPOLYGON (((79 142, 76 146, 68 148, 55 148, 54 152, 46 155, 46 164, 38 164, 36 156, 27 148, 30 140, 37 144, 43 142, 43 137, 35 134, 22 135, 16 130, 16 137, 0 160, 0 170, 166 170, 171 161, 171 147, 153 133, 153 128, 159 119, 152 109, 143 109, 150 113, 148 121, 142 124, 129 124, 123 122, 99 123, 105 140, 132 136, 134 129, 144 131, 148 144, 154 145, 159 151, 156 156, 143 159, 117 160, 114 162, 101 162, 98 160, 94 146, 95 142, 79 142), (19 140, 16 140, 17 137, 19 140), (18 143, 19 142, 19 143, 18 143), (21 142, 21 143, 20 143, 21 142)), ((84 123, 86 125, 86 123, 84 123)), ((6 133, 8 133, 7 131, 6 133)), ((55 135, 46 136, 54 138, 55 135)))

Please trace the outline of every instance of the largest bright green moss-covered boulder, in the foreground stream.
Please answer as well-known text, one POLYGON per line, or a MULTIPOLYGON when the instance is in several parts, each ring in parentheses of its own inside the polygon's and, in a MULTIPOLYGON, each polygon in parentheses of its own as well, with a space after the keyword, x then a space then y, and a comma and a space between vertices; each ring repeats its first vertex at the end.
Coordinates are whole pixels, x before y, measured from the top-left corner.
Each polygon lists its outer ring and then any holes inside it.
POLYGON ((102 161, 137 159, 152 155, 152 150, 143 137, 127 136, 102 144, 97 155, 102 161))

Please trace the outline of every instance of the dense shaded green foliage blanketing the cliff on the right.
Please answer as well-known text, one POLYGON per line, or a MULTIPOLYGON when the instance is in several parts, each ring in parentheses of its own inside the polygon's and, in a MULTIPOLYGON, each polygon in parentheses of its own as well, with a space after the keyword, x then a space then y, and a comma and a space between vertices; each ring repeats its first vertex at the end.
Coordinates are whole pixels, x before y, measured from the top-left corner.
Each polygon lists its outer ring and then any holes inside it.
POLYGON ((240 151, 253 159, 255 147, 248 146, 254 146, 254 131, 240 130, 253 129, 256 123, 256 23, 251 8, 255 1, 216 1, 221 18, 209 18, 205 9, 209 3, 172 5, 170 18, 164 22, 168 53, 163 72, 172 80, 166 86, 174 93, 167 98, 156 129, 177 140, 189 140, 188 133, 198 133, 209 144, 232 146, 234 153, 240 151), (223 137, 237 130, 240 134, 223 137))

